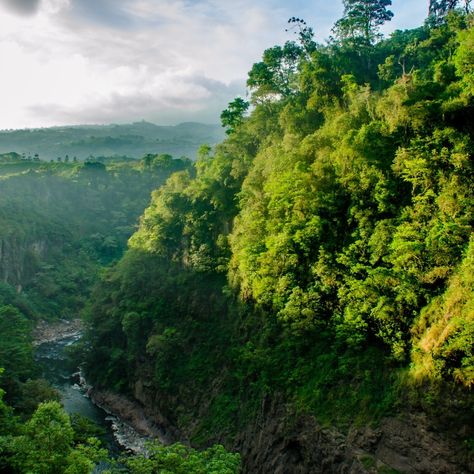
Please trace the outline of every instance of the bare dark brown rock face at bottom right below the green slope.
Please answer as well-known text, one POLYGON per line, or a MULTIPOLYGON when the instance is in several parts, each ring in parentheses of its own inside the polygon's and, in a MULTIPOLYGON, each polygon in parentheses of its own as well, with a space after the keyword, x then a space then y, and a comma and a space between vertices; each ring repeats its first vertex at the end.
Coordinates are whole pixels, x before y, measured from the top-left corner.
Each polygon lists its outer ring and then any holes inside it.
POLYGON ((424 414, 386 418, 377 429, 343 435, 267 401, 236 448, 243 455, 244 472, 252 474, 474 472, 474 458, 465 454, 460 441, 439 434, 424 414))

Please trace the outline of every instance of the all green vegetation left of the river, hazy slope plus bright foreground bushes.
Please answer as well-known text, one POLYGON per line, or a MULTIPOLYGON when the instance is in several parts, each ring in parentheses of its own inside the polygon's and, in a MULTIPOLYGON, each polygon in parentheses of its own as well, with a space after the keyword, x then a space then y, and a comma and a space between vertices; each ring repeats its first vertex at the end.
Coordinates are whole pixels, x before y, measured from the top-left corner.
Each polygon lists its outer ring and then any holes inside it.
POLYGON ((187 159, 98 158, 79 163, 0 156, 0 472, 233 474, 239 455, 151 445, 149 455, 115 460, 90 421, 70 417, 59 393, 38 378, 32 329, 39 318, 74 317, 100 272, 119 259, 149 193, 187 159))

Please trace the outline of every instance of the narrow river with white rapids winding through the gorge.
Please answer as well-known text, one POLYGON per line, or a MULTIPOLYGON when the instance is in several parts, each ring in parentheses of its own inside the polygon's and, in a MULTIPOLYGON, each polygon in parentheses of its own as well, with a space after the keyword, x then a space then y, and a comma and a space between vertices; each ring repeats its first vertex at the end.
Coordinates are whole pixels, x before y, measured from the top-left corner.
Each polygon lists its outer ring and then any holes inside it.
POLYGON ((94 405, 87 397, 86 387, 79 385, 77 376, 73 376, 77 369, 71 368, 66 348, 79 339, 80 333, 77 332, 43 342, 36 347, 35 359, 41 369, 42 377, 59 391, 67 413, 82 415, 105 429, 101 439, 112 456, 117 456, 124 450, 143 452, 147 439, 118 417, 94 405))

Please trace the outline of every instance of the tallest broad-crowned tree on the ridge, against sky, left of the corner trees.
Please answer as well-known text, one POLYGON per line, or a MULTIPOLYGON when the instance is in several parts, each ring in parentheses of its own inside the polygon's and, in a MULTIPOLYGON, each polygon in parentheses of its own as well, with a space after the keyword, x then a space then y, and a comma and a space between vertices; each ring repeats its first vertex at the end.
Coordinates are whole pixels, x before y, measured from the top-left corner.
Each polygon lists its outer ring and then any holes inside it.
POLYGON ((373 44, 380 37, 379 27, 393 17, 387 9, 391 4, 392 0, 344 0, 344 16, 336 22, 333 32, 341 40, 373 44))

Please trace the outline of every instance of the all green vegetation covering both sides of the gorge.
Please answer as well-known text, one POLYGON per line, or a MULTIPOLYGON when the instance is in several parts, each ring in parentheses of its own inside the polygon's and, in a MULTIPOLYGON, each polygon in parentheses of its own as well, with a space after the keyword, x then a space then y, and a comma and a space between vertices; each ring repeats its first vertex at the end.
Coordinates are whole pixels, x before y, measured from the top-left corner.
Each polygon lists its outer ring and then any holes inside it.
POLYGON ((382 39, 390 2, 345 0, 326 45, 292 18, 296 41, 264 52, 194 164, 0 160, 0 239, 34 244, 0 288, 0 469, 105 459, 33 380, 30 334, 114 261, 84 311, 87 376, 207 447, 152 444, 117 469, 238 472, 209 446, 234 448, 269 400, 341 431, 442 413, 472 450, 474 20, 458 3, 382 39))

